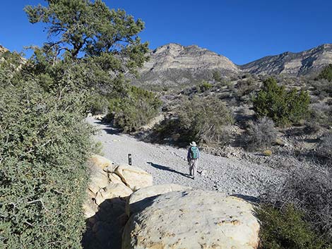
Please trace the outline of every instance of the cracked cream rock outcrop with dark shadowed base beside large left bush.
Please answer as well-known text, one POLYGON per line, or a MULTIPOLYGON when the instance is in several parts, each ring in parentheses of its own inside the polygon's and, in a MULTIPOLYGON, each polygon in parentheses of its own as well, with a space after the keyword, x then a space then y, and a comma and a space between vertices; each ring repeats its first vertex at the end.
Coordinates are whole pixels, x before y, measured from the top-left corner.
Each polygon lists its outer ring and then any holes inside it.
POLYGON ((87 218, 83 247, 120 249, 121 233, 128 219, 126 198, 134 189, 152 184, 152 176, 133 166, 119 166, 98 155, 90 158, 89 166, 88 198, 83 205, 87 218))

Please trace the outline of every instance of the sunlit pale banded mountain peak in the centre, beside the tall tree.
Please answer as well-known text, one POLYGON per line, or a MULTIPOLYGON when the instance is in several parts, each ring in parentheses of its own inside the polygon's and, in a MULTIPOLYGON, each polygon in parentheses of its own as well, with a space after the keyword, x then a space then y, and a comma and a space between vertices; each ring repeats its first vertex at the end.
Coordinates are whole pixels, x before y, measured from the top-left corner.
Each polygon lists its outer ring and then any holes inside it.
POLYGON ((187 85, 221 75, 237 75, 239 68, 225 56, 196 45, 184 47, 166 44, 150 51, 150 61, 141 68, 141 77, 134 80, 140 85, 187 85))

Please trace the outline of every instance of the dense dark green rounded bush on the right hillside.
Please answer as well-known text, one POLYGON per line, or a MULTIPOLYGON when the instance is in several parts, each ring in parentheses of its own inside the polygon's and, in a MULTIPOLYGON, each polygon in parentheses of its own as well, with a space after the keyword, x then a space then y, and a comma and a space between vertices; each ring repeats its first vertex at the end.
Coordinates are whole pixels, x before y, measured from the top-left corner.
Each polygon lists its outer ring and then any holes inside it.
POLYGON ((274 78, 265 80, 253 98, 257 116, 268 116, 278 125, 299 122, 307 115, 309 102, 308 92, 295 88, 287 91, 283 85, 278 86, 274 78))

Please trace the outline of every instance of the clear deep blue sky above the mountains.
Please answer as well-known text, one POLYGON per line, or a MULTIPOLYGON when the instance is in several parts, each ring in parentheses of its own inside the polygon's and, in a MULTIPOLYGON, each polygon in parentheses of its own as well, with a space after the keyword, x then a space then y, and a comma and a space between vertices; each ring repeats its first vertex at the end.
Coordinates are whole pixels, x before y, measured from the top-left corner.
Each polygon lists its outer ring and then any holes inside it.
MULTIPOLYGON (((331 0, 104 0, 146 23, 150 48, 170 42, 197 44, 237 64, 284 51, 332 43, 331 0)), ((43 25, 28 23, 25 5, 42 0, 1 1, 0 44, 21 51, 46 40, 43 25)))

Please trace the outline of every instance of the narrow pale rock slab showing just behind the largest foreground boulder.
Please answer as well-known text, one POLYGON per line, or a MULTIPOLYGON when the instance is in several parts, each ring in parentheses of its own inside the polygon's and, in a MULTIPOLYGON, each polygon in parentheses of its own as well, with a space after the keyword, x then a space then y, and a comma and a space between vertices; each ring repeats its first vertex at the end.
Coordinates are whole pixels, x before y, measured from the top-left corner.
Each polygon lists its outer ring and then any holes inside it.
POLYGON ((184 190, 191 190, 191 188, 177 184, 162 184, 141 188, 132 193, 127 199, 126 214, 130 216, 133 213, 142 211, 144 208, 148 207, 158 195, 184 190))

